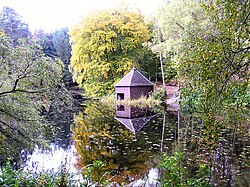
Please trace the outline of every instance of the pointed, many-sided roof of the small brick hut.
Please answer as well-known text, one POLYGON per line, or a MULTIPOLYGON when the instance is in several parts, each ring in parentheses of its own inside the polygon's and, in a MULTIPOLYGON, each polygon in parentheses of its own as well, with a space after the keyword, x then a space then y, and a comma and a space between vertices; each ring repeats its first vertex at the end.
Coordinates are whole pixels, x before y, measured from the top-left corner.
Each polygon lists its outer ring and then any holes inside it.
POLYGON ((125 75, 116 85, 117 86, 152 86, 153 83, 150 82, 146 77, 144 77, 139 70, 135 67, 125 75))

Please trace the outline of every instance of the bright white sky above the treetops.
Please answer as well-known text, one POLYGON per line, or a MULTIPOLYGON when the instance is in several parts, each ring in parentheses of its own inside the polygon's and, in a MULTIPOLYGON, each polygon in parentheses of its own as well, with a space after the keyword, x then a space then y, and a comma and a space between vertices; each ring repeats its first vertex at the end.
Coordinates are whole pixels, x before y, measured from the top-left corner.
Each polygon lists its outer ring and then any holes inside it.
POLYGON ((154 14, 161 0, 0 0, 3 6, 13 8, 22 16, 32 32, 42 29, 53 32, 56 29, 72 27, 90 12, 112 8, 121 3, 138 7, 141 13, 154 14))

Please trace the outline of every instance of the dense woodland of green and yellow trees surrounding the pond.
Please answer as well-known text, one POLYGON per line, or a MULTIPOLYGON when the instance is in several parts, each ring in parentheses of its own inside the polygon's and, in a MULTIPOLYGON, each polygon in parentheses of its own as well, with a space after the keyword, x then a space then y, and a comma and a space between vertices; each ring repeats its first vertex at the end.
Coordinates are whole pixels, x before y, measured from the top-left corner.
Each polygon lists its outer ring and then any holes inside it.
POLYGON ((207 129, 206 138, 192 139, 197 146, 216 143, 224 128, 249 138, 248 0, 164 1, 155 17, 123 5, 53 33, 31 33, 8 7, 0 10, 0 20, 3 163, 18 155, 19 147, 46 147, 56 131, 49 114, 73 108, 72 85, 84 97, 101 98, 112 94, 133 66, 152 82, 180 85, 184 118, 201 118, 207 129))

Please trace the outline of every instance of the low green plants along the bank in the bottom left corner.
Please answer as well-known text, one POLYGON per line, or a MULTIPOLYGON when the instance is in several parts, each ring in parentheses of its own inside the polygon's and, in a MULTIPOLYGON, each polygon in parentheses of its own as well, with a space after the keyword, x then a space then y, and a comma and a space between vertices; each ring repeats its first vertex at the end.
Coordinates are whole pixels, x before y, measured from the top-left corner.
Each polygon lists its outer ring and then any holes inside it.
MULTIPOLYGON (((95 161, 93 164, 86 167, 86 173, 80 174, 71 173, 65 164, 57 171, 48 170, 43 172, 26 171, 24 169, 14 169, 11 167, 10 161, 0 168, 0 185, 3 187, 21 187, 21 186, 43 186, 43 187, 81 187, 96 185, 92 182, 91 172, 96 168, 103 167, 104 163, 95 161), (85 175, 86 174, 86 175, 85 175)), ((106 185, 107 181, 102 180, 97 183, 98 185, 106 185)))

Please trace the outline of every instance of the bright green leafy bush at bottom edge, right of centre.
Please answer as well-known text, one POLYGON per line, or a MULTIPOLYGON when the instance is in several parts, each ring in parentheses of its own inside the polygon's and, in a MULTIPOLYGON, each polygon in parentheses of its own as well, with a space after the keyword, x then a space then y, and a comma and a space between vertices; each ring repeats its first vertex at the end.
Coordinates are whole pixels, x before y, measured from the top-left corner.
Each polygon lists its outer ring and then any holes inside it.
POLYGON ((208 187, 209 183, 206 181, 206 176, 209 170, 206 165, 200 165, 194 177, 188 177, 187 168, 183 163, 184 154, 175 152, 172 156, 163 155, 163 160, 159 167, 164 171, 164 178, 162 186, 179 186, 179 187, 208 187))

